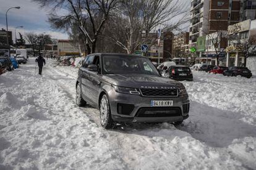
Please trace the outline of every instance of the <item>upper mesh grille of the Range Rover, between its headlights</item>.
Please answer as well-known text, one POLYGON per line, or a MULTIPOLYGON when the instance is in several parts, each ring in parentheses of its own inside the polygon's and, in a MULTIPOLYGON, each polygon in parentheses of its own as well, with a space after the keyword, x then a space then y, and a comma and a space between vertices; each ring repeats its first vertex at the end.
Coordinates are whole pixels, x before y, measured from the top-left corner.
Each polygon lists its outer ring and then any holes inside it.
POLYGON ((143 96, 169 96, 169 97, 177 97, 178 92, 177 89, 140 89, 140 92, 143 96))

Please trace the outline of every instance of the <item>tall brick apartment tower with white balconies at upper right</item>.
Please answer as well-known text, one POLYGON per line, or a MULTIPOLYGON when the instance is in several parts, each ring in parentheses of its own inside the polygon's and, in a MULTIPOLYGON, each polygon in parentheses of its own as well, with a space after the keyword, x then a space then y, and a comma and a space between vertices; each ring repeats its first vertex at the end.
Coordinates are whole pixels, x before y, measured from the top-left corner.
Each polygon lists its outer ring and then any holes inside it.
MULTIPOLYGON (((197 38, 218 30, 228 30, 242 20, 241 6, 245 0, 192 0, 189 45, 197 47, 197 38)), ((256 0, 255 0, 256 1, 256 0)), ((249 7, 248 7, 249 8, 249 7)), ((252 7, 251 7, 252 8, 252 7)), ((201 53, 197 53, 197 56, 201 53)))

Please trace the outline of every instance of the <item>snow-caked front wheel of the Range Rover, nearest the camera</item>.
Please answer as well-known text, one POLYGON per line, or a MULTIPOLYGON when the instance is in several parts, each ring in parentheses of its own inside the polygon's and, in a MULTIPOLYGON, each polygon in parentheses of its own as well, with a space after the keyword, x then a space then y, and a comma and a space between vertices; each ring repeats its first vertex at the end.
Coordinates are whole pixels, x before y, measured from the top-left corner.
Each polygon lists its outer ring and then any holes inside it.
POLYGON ((111 117, 108 96, 104 94, 100 99, 100 124, 105 129, 113 129, 116 123, 111 117))

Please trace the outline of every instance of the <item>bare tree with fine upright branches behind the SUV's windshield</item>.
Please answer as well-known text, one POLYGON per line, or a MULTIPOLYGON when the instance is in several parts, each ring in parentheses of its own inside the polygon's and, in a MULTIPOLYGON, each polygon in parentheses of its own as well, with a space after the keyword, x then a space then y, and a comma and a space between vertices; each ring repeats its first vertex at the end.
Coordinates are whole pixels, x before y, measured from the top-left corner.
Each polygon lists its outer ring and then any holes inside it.
POLYGON ((115 32, 110 37, 128 54, 133 53, 142 43, 155 44, 156 36, 151 34, 157 26, 168 32, 186 23, 187 9, 177 0, 124 0, 113 17, 115 32))

